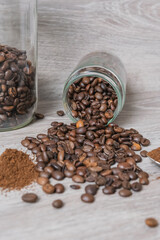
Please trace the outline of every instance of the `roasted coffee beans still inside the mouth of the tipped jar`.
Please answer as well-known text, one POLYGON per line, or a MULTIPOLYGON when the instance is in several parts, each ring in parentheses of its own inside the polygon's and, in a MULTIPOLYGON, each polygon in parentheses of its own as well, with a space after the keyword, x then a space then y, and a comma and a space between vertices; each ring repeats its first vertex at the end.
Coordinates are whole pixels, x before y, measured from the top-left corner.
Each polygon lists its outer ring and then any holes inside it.
POLYGON ((114 116, 118 99, 109 83, 97 77, 83 77, 68 89, 68 104, 76 119, 107 124, 114 116))

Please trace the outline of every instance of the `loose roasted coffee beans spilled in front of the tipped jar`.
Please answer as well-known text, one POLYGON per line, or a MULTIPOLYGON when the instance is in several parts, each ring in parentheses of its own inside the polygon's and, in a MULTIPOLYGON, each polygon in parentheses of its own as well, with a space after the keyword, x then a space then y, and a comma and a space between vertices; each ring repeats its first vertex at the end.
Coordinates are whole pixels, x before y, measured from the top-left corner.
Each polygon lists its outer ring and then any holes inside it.
POLYGON ((118 191, 121 197, 129 197, 149 184, 148 173, 137 165, 142 158, 136 152, 150 141, 133 128, 113 123, 104 126, 96 119, 71 124, 52 122, 47 134, 26 137, 21 143, 36 155, 37 182, 47 194, 64 192, 64 186, 52 185, 50 178, 71 178, 75 183, 72 189, 88 182, 81 196, 87 203, 94 201, 101 188, 105 195, 118 191))

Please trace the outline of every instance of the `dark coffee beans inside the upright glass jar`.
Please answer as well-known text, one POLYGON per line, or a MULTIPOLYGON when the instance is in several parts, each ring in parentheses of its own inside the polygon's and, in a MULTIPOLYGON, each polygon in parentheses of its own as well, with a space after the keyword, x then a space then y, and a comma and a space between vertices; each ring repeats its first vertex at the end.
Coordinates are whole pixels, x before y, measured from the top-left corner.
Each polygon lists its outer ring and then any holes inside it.
POLYGON ((31 118, 35 101, 35 69, 26 51, 0 45, 0 128, 31 118))

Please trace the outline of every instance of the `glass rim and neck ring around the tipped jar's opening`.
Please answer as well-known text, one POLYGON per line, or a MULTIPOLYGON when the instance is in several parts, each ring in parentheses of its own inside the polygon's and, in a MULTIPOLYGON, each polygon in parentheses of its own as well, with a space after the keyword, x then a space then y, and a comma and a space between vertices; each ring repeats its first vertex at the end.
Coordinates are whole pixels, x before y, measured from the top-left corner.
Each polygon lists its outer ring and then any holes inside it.
POLYGON ((118 116, 118 114, 121 112, 123 105, 124 105, 124 101, 125 101, 125 87, 122 84, 122 81, 120 80, 119 76, 117 76, 117 74, 115 74, 112 70, 105 68, 105 67, 101 67, 98 65, 95 66, 86 66, 85 68, 80 68, 77 71, 74 71, 71 73, 71 75, 69 76, 65 86, 64 86, 64 90, 63 90, 63 106, 64 106, 64 110, 67 114, 67 116, 73 121, 73 122, 77 122, 79 120, 79 118, 74 118, 72 116, 72 110, 71 107, 69 106, 68 103, 68 99, 67 99, 67 93, 68 93, 68 89, 69 87, 77 80, 83 78, 83 77, 97 77, 97 78, 102 78, 104 81, 106 81, 107 83, 110 84, 110 86, 114 89, 116 95, 117 95, 117 99, 118 99, 118 104, 117 107, 113 113, 113 118, 111 118, 108 123, 106 124, 106 126, 113 122, 116 117, 118 116), (116 81, 115 81, 116 80, 116 81))

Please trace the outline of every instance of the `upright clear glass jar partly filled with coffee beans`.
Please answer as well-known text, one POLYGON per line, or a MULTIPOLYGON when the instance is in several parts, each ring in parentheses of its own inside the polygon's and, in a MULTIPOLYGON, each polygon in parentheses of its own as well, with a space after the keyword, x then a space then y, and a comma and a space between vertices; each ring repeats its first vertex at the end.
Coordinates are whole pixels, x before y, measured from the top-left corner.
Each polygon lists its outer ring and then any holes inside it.
POLYGON ((37 1, 0 0, 0 131, 33 119, 36 64, 37 1))

